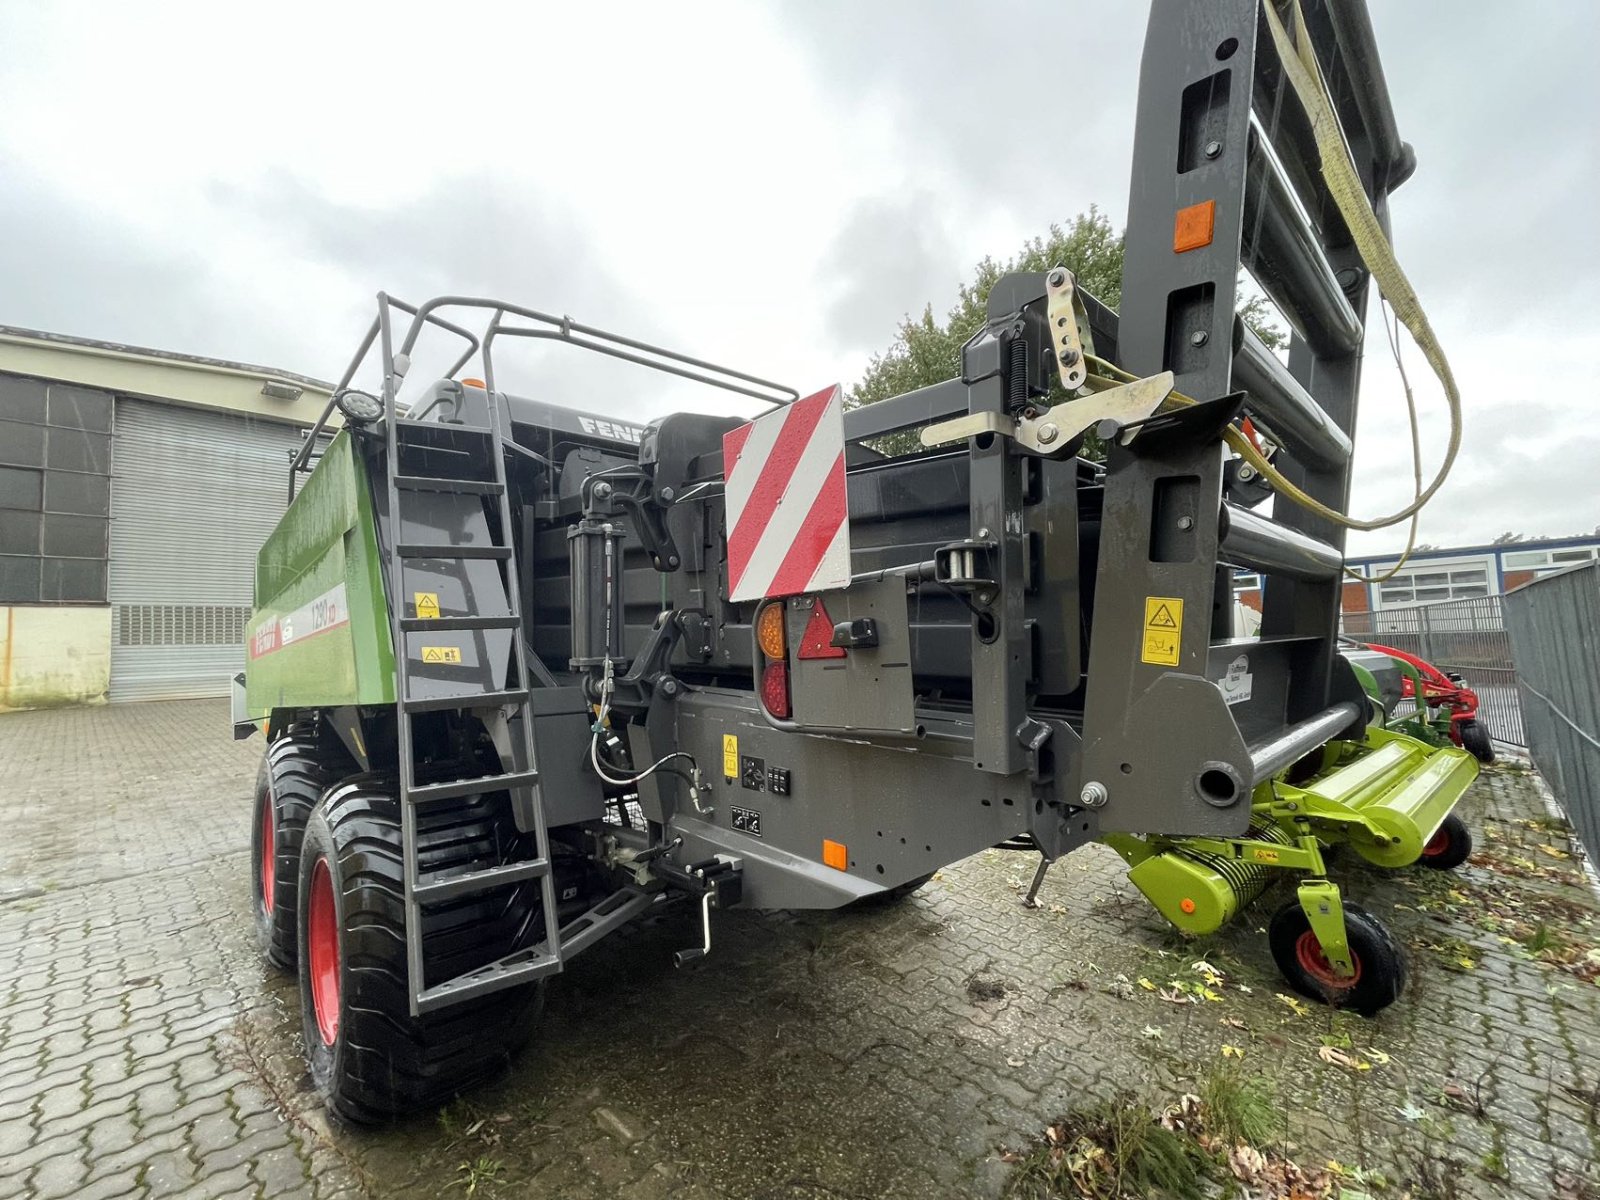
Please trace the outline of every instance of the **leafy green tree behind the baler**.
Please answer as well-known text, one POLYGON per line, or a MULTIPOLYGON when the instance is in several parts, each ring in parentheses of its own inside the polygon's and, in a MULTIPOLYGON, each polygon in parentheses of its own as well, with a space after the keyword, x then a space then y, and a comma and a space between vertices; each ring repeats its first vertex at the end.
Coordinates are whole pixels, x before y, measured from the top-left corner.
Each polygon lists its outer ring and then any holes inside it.
MULTIPOLYGON (((962 342, 982 326, 989 290, 1002 275, 1062 266, 1077 277, 1080 288, 1112 309, 1118 307, 1122 253, 1123 235, 1091 205, 1090 211, 1078 213, 1066 227, 1051 226, 1048 235, 1026 242, 1005 262, 986 258, 973 269, 971 283, 962 285, 955 306, 942 322, 934 318, 933 304, 923 307, 922 317, 906 317, 901 322, 890 347, 872 355, 861 381, 850 389, 851 406, 870 405, 960 374, 962 342)), ((1285 336, 1270 323, 1266 301, 1259 296, 1253 296, 1240 309, 1240 315, 1269 347, 1283 344, 1285 336)), ((880 438, 880 448, 888 453, 906 453, 915 445, 915 434, 880 438)), ((1098 443, 1093 450, 1098 450, 1098 443)))

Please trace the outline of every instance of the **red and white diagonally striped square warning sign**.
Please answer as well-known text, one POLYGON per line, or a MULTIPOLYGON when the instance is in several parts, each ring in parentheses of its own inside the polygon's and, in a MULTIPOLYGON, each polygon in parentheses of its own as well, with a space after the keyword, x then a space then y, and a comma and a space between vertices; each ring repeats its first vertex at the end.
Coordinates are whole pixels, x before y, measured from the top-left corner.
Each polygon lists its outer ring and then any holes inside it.
POLYGON ((723 434, 722 462, 733 600, 850 582, 845 400, 837 384, 723 434))

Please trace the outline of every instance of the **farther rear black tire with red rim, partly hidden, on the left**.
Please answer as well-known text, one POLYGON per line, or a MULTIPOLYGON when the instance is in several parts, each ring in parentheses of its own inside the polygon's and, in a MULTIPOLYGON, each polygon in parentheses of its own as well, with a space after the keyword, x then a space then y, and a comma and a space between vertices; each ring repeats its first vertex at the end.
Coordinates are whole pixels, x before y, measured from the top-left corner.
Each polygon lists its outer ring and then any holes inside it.
POLYGON ((282 971, 294 971, 299 952, 301 838, 330 782, 309 723, 291 725, 267 747, 256 771, 251 835, 256 947, 282 971))

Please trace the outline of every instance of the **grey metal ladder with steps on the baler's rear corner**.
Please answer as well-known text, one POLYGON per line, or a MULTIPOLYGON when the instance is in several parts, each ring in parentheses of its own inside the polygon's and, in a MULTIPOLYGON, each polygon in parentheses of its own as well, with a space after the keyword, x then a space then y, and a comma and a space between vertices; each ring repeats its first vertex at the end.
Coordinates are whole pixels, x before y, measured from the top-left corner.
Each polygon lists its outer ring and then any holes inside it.
MULTIPOLYGON (((384 358, 394 362, 389 347, 387 322, 382 323, 384 358)), ((397 757, 400 776, 400 837, 405 872, 405 938, 406 938, 406 976, 410 982, 411 1016, 422 1016, 450 1005, 462 1003, 491 992, 499 992, 517 984, 533 982, 562 970, 560 925, 557 914, 555 880, 550 870, 550 840, 544 819, 544 805, 539 795, 539 771, 533 742, 533 715, 528 709, 528 690, 533 677, 528 666, 528 648, 522 634, 522 605, 518 595, 517 558, 510 546, 512 512, 506 488, 506 456, 501 437, 499 406, 493 389, 486 390, 488 424, 469 426, 454 422, 411 421, 398 416, 395 408, 395 392, 398 378, 392 371, 384 373, 384 440, 386 440, 386 485, 389 506, 382 517, 379 533, 384 534, 384 546, 389 550, 389 621, 395 654, 395 707, 397 707, 397 757), (493 464, 490 478, 461 478, 462 470, 443 469, 443 474, 426 466, 429 454, 413 453, 408 458, 405 450, 445 448, 440 443, 448 440, 448 450, 435 458, 446 462, 470 459, 482 464, 485 459, 493 464), (467 450, 469 453, 462 453, 467 450), (418 466, 422 462, 424 466, 418 466), (458 546, 448 542, 402 541, 408 507, 414 509, 427 493, 443 493, 456 496, 477 496, 493 507, 499 517, 499 530, 490 528, 490 542, 458 546), (496 563, 501 573, 507 611, 498 616, 406 616, 405 605, 405 568, 416 560, 467 560, 486 558, 496 563), (510 630, 510 659, 502 688, 478 686, 451 694, 414 694, 413 691, 413 653, 408 635, 419 632, 477 632, 477 630, 510 630), (413 738, 413 718, 419 712, 440 710, 474 710, 491 733, 498 723, 504 723, 504 738, 496 738, 499 746, 510 747, 510 768, 499 774, 462 776, 458 779, 434 779, 418 782, 416 746, 413 738), (419 821, 426 810, 443 800, 454 800, 483 792, 509 790, 514 802, 522 797, 528 803, 525 811, 531 813, 531 834, 534 856, 525 861, 504 862, 482 867, 464 874, 446 874, 435 878, 435 872, 421 870, 421 838, 419 821), (477 970, 458 974, 450 979, 427 981, 422 955, 422 915, 430 906, 454 901, 462 896, 485 893, 491 888, 522 883, 525 880, 539 882, 539 899, 544 918, 544 939, 533 946, 515 949, 501 958, 477 970)), ((467 589, 467 603, 472 603, 472 589, 467 589)), ((485 640, 488 642, 488 638, 485 640)), ((485 664, 482 672, 485 680, 493 680, 493 664, 485 664)), ((515 803, 514 803, 515 808, 515 803)))

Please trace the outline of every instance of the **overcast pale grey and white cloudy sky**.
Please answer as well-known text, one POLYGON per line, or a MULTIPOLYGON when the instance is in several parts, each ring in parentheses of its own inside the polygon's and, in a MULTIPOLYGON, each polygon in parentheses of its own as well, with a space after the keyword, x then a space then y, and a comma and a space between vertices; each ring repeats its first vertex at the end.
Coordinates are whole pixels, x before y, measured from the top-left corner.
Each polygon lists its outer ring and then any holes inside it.
MULTIPOLYGON (((1395 243, 1466 397, 1421 538, 1592 530, 1600 5, 1371 6, 1419 158, 1395 243)), ((850 384, 984 254, 1091 203, 1123 224, 1144 22, 1120 0, 0 0, 0 323, 334 378, 379 288, 488 293, 850 384)), ((1371 328, 1358 515, 1410 491, 1371 328)), ((747 411, 587 358, 507 382, 747 411)), ((1437 464, 1440 390, 1410 366, 1437 464)))

